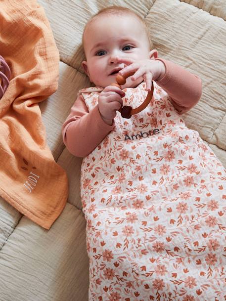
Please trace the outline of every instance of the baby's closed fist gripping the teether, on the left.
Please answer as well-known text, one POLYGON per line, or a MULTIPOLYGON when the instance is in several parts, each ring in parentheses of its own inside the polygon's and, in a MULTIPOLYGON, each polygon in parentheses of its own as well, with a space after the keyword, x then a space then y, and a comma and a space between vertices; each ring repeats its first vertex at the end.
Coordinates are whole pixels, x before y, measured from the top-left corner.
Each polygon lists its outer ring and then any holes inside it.
POLYGON ((116 111, 123 105, 122 97, 126 94, 117 86, 106 86, 98 97, 98 108, 104 122, 112 125, 116 111))

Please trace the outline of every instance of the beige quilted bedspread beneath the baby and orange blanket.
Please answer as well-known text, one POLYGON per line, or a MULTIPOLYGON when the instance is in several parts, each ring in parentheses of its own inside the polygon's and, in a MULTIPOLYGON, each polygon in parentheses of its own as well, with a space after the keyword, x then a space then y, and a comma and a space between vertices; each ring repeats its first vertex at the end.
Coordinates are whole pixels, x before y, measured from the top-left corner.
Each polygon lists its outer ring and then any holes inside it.
POLYGON ((86 222, 80 166, 62 142, 61 127, 79 89, 90 86, 81 68, 83 28, 99 9, 122 5, 146 19, 159 57, 202 79, 198 104, 182 119, 200 133, 226 167, 226 2, 224 0, 39 0, 60 53, 58 90, 41 103, 47 143, 69 178, 67 205, 49 231, 0 199, 0 301, 88 300, 86 222))

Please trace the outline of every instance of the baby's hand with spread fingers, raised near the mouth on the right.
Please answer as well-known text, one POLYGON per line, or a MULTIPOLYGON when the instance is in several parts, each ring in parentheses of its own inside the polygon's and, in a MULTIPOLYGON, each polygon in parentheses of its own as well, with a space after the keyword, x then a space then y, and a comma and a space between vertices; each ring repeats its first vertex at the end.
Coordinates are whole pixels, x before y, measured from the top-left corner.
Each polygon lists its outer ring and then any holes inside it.
POLYGON ((117 62, 124 63, 128 66, 119 71, 119 74, 124 76, 128 72, 135 72, 131 76, 132 81, 142 77, 146 83, 146 90, 151 90, 151 81, 160 80, 166 73, 166 67, 163 62, 153 59, 143 59, 135 61, 131 58, 118 58, 117 62))

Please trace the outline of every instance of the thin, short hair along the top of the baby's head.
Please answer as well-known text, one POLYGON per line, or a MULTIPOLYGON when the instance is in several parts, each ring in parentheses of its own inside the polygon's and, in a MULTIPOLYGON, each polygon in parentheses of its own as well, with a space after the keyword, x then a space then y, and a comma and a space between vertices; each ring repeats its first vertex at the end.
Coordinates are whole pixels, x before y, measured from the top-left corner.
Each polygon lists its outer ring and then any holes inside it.
POLYGON ((133 16, 135 16, 142 23, 142 25, 144 27, 144 30, 146 32, 147 38, 148 38, 148 42, 149 42, 149 45, 150 45, 150 50, 153 49, 154 46, 153 46, 153 43, 151 41, 150 32, 149 32, 149 29, 147 27, 147 24, 146 24, 145 20, 143 18, 141 18, 133 10, 131 10, 131 9, 127 8, 127 7, 116 6, 116 5, 103 8, 103 9, 99 10, 95 15, 93 15, 90 18, 90 20, 87 22, 87 24, 86 24, 86 26, 84 28, 84 31, 83 31, 83 42, 84 42, 84 33, 85 33, 85 30, 86 30, 87 26, 90 24, 90 22, 92 22, 94 19, 96 19, 99 15, 103 15, 103 14, 115 14, 115 15, 119 15, 119 14, 128 14, 128 13, 131 14, 131 15, 133 15, 133 16))

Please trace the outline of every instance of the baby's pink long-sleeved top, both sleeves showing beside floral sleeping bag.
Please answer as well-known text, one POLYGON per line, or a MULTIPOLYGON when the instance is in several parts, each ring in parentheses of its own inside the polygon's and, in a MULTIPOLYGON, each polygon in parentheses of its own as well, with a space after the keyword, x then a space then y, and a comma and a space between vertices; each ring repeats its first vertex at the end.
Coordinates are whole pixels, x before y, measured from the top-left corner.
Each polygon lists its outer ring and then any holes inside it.
MULTIPOLYGON (((164 77, 155 81, 156 84, 168 93, 180 115, 187 112, 201 97, 201 79, 169 60, 162 58, 156 60, 161 60, 166 67, 164 77)), ((114 122, 109 126, 103 121, 98 105, 89 112, 80 94, 63 124, 63 142, 73 155, 86 157, 113 128, 114 122)))

